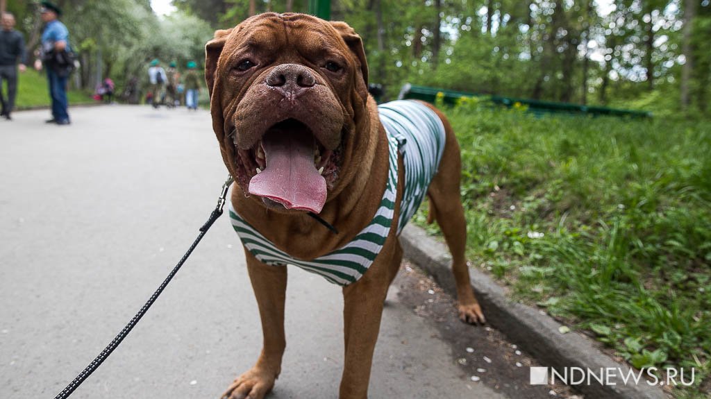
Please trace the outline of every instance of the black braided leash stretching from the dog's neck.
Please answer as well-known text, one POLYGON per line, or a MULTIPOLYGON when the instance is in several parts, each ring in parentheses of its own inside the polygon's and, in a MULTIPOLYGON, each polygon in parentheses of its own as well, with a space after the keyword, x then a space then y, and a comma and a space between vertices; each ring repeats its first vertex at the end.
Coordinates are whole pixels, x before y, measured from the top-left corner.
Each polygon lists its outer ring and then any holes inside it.
POLYGON ((116 349, 117 346, 121 344, 121 341, 126 338, 126 336, 129 334, 129 332, 131 332, 133 327, 139 322, 141 317, 146 314, 149 307, 153 305, 153 302, 156 302, 156 299, 158 299, 158 296, 161 295, 164 288, 166 288, 166 285, 171 282, 173 276, 178 273, 178 270, 180 270, 181 266, 183 266, 183 263, 188 260, 188 256, 193 253, 193 249, 198 246, 200 240, 203 239, 205 233, 208 232, 210 226, 212 226, 213 223, 215 223, 215 220, 217 220, 223 214, 223 207, 225 206, 225 197, 227 197, 227 191, 230 187, 230 184, 232 184, 232 176, 228 176, 228 179, 225 180, 225 184, 222 188, 222 193, 220 194, 220 199, 218 200, 218 205, 217 207, 215 207, 215 210, 213 210, 213 213, 210 214, 210 218, 208 219, 208 221, 205 222, 205 224, 203 224, 203 226, 200 228, 200 234, 198 235, 198 238, 195 240, 195 242, 193 242, 193 245, 190 246, 188 252, 186 252, 183 258, 178 262, 176 267, 173 268, 171 273, 168 275, 168 277, 166 277, 166 279, 159 286, 156 292, 151 295, 148 302, 146 302, 146 304, 141 307, 141 310, 139 310, 138 313, 134 316, 134 318, 131 319, 129 324, 126 324, 126 327, 124 327, 124 329, 119 332, 116 338, 114 338, 113 341, 111 341, 111 343, 108 344, 103 351, 101 351, 99 356, 96 356, 96 359, 94 359, 94 361, 92 361, 89 366, 87 366, 84 371, 82 371, 77 376, 77 378, 74 378, 74 381, 72 381, 67 386, 67 388, 64 388, 64 390, 60 392, 59 395, 55 396, 55 399, 66 399, 74 392, 75 389, 79 388, 79 386, 84 382, 84 380, 91 376, 91 374, 96 371, 99 366, 101 366, 101 364, 106 360, 106 358, 109 357, 109 355, 114 351, 114 349, 116 349))

